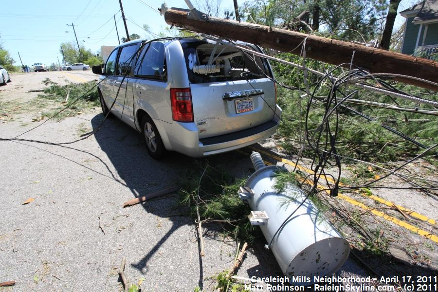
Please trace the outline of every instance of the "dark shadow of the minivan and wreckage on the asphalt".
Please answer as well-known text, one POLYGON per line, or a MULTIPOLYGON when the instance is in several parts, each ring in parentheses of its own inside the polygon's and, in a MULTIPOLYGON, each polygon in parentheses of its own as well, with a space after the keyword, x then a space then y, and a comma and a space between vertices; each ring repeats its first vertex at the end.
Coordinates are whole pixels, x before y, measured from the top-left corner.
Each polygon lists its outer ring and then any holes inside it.
MULTIPOLYGON (((98 127, 103 118, 102 114, 96 115, 92 118, 91 124, 93 130, 98 127)), ((165 185, 166 187, 172 187, 182 183, 185 175, 192 169, 199 168, 197 160, 187 157, 183 154, 176 152, 169 152, 167 156, 160 160, 152 159, 147 151, 145 143, 141 135, 130 128, 128 125, 120 121, 119 119, 112 117, 105 122, 105 126, 95 133, 95 139, 103 152, 106 153, 110 159, 111 164, 114 166, 118 176, 125 181, 126 186, 132 193, 132 197, 139 197, 148 193, 158 191, 165 185)), ((221 169, 231 168, 232 171, 237 170, 237 175, 244 177, 251 174, 251 167, 236 168, 232 163, 240 163, 239 159, 251 164, 249 158, 237 154, 236 152, 230 152, 209 157, 209 164, 221 169), (242 172, 246 173, 242 176, 242 172)), ((252 165, 251 165, 252 166, 252 165)), ((234 175, 233 173, 231 173, 234 175)), ((172 234, 183 225, 194 225, 194 220, 189 217, 181 216, 169 216, 168 210, 163 208, 163 200, 173 201, 176 205, 176 201, 171 198, 165 197, 160 200, 147 201, 142 206, 147 213, 152 213, 162 218, 168 218, 172 222, 172 227, 168 232, 161 237, 150 251, 143 256, 143 258, 132 266, 141 271, 147 273, 147 263, 149 259, 157 253, 164 242, 172 236, 172 234)), ((218 229, 216 224, 206 224, 204 237, 215 237, 214 234, 218 229), (213 234, 213 235, 212 235, 213 234)), ((198 236, 198 235, 197 235, 198 236)), ((264 239, 263 239, 264 240, 264 239)), ((263 246, 264 243, 257 243, 257 245, 263 246)), ((198 247, 200 250, 200 247, 198 247)), ((258 248, 260 250, 260 248, 258 248)), ((271 252, 259 253, 255 248, 256 257, 264 267, 258 267, 250 269, 251 275, 256 276, 275 276, 281 275, 274 257, 271 252), (269 256, 266 256, 269 254, 269 256)), ((199 256, 199 253, 198 253, 199 256)), ((203 281, 203 268, 202 257, 199 256, 200 275, 199 275, 199 287, 202 290, 203 281)))

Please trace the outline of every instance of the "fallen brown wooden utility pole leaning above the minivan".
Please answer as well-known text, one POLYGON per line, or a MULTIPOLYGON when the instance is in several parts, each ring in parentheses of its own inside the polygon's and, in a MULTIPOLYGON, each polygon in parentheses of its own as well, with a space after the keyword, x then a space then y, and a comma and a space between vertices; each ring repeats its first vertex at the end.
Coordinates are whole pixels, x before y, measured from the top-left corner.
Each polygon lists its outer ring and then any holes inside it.
MULTIPOLYGON (((187 18, 187 11, 177 9, 166 10, 164 19, 170 25, 191 31, 246 41, 295 55, 301 54, 305 41, 306 57, 315 60, 333 65, 347 63, 345 67, 349 68, 353 57, 354 65, 370 73, 401 74, 431 82, 438 81, 438 62, 411 55, 248 22, 216 17, 194 20, 187 18)), ((435 84, 403 77, 394 79, 438 91, 438 86, 435 84)))

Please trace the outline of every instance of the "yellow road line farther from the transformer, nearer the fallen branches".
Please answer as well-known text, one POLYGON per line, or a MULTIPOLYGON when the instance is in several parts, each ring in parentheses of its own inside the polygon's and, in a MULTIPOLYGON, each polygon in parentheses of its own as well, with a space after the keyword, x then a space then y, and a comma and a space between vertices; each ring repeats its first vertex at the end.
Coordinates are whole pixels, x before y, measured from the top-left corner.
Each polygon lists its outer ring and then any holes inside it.
MULTIPOLYGON (((286 163, 286 164, 289 164, 289 165, 295 166, 295 162, 293 162, 293 161, 291 161, 291 160, 284 159, 284 158, 279 157, 279 156, 277 156, 277 155, 273 155, 273 154, 271 154, 271 153, 269 153, 269 152, 266 152, 266 151, 261 150, 261 149, 257 149, 256 147, 253 147, 253 146, 249 146, 249 148, 251 148, 251 149, 253 149, 253 150, 255 150, 255 151, 258 151, 258 152, 260 152, 260 153, 263 153, 263 154, 265 154, 265 155, 267 155, 267 156, 269 156, 269 157, 275 159, 276 161, 279 161, 279 162, 282 162, 282 163, 286 163)), ((298 168, 298 169, 300 169, 300 170, 302 170, 302 171, 305 171, 305 172, 307 172, 308 174, 314 174, 314 172, 313 172, 311 169, 309 169, 309 168, 307 168, 307 167, 303 167, 303 166, 301 166, 301 165, 299 165, 299 164, 296 166, 296 168, 298 168)), ((330 177, 327 177, 327 176, 324 176, 324 175, 321 175, 321 177, 327 179, 327 181, 329 181, 330 183, 335 183, 334 180, 333 180, 332 178, 330 178, 330 177)), ((343 184, 343 183, 339 183, 339 185, 340 185, 340 186, 345 186, 345 184, 343 184)), ((414 218, 416 218, 416 219, 420 219, 420 220, 422 220, 422 221, 425 221, 425 222, 427 222, 427 223, 429 223, 429 224, 432 224, 432 225, 437 224, 437 222, 436 222, 435 219, 431 219, 431 218, 429 218, 429 217, 427 217, 427 216, 425 216, 425 215, 422 215, 422 214, 420 214, 420 213, 418 213, 418 212, 411 211, 411 210, 406 209, 406 208, 404 208, 404 207, 402 207, 402 206, 396 205, 396 204, 394 204, 394 203, 391 202, 391 201, 386 201, 386 200, 384 200, 384 199, 382 199, 382 198, 380 198, 380 197, 374 196, 374 195, 368 196, 368 195, 365 195, 365 194, 363 194, 363 193, 361 193, 361 195, 363 195, 363 196, 365 196, 365 197, 367 197, 367 198, 370 198, 370 199, 372 199, 372 200, 374 200, 374 201, 377 201, 377 202, 379 202, 379 203, 382 203, 382 204, 384 204, 384 205, 386 205, 386 206, 388 206, 388 207, 398 208, 398 209, 404 211, 407 215, 410 215, 410 216, 412 216, 412 217, 414 217, 414 218)))

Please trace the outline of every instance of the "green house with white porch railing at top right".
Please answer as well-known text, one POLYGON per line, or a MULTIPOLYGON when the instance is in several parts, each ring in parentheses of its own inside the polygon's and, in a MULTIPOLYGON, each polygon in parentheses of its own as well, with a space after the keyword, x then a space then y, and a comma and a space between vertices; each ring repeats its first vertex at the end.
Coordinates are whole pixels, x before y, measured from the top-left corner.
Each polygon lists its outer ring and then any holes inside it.
POLYGON ((424 0, 403 10, 402 53, 438 59, 438 0, 424 0))

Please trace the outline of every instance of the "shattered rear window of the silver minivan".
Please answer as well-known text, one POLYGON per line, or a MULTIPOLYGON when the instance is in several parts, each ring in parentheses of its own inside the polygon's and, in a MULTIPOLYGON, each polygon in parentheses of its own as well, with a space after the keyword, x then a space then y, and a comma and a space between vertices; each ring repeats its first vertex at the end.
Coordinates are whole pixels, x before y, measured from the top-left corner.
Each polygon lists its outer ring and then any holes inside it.
POLYGON ((232 46, 215 46, 206 41, 183 42, 181 45, 191 83, 272 77, 266 59, 247 55, 232 46))

